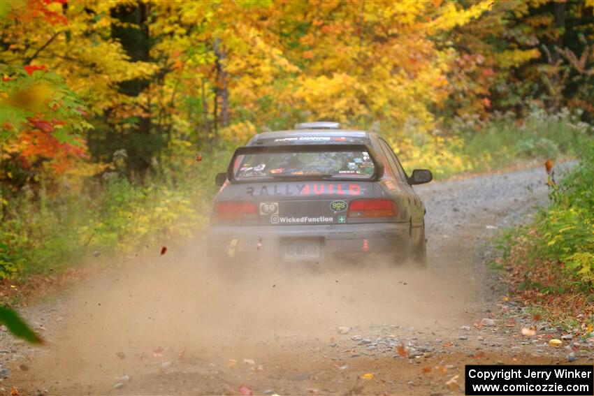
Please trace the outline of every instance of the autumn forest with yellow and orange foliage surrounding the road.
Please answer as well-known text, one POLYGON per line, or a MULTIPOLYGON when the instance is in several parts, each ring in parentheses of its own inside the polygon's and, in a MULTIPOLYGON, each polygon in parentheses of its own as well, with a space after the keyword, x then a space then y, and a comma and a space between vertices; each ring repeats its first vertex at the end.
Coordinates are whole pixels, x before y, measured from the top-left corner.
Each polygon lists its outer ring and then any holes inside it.
POLYGON ((235 147, 333 120, 438 178, 579 158, 505 256, 593 294, 594 0, 6 0, 0 29, 5 284, 192 237, 235 147))

